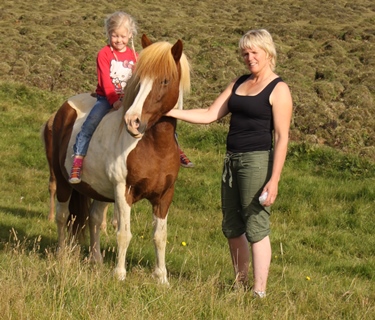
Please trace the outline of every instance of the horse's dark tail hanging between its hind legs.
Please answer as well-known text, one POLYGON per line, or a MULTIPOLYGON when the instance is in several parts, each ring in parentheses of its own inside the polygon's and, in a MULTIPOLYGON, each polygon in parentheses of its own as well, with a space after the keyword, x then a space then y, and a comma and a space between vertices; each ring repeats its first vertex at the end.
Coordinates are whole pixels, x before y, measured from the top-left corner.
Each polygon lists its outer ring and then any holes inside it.
POLYGON ((83 241, 85 230, 89 223, 91 199, 78 191, 72 191, 69 201, 68 229, 74 237, 83 241))

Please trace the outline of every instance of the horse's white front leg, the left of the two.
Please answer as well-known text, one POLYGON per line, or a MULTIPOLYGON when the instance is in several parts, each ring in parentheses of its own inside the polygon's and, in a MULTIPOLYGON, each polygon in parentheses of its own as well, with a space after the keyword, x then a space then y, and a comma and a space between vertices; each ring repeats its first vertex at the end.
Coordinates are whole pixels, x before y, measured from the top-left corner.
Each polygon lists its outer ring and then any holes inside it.
POLYGON ((130 231, 131 206, 125 200, 125 185, 116 186, 114 215, 117 217, 117 245, 118 257, 115 275, 119 280, 126 278, 126 252, 129 247, 132 234, 130 231))

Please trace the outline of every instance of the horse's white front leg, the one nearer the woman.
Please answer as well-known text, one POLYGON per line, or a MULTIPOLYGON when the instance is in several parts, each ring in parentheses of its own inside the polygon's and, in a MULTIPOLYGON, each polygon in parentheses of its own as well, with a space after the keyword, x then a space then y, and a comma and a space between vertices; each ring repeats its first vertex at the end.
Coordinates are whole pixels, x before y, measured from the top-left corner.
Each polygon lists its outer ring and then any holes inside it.
POLYGON ((167 245, 167 217, 164 219, 153 216, 154 246, 156 255, 155 271, 153 273, 161 284, 169 285, 167 268, 165 267, 165 248, 167 245))

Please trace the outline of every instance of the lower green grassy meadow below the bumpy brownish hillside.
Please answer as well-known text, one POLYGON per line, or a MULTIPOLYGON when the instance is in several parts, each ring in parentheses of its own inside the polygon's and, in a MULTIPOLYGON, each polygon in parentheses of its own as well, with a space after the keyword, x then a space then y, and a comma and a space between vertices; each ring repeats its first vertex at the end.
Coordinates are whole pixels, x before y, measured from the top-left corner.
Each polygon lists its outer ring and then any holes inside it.
MULTIPOLYGON (((181 169, 168 220, 170 287, 156 284, 151 207, 132 210, 124 282, 113 277, 116 235, 102 235, 104 264, 87 245, 55 254, 47 221, 48 170, 39 129, 63 98, 0 84, 0 314, 2 319, 372 319, 375 312, 374 163, 292 144, 272 214, 265 300, 233 290, 221 233, 226 126, 179 123, 195 162, 181 169), (186 246, 182 245, 186 243, 186 246)), ((109 218, 112 214, 110 208, 109 218)), ((109 222, 109 221, 108 221, 109 222)))

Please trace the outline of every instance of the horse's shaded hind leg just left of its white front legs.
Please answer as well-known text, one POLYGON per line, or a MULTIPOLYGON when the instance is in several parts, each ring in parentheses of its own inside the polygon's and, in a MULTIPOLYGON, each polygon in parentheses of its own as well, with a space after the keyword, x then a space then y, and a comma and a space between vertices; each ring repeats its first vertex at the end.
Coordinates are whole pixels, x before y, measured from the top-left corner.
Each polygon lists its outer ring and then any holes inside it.
POLYGON ((107 202, 94 201, 90 209, 89 225, 91 259, 99 263, 103 262, 103 257, 100 253, 100 230, 108 206, 109 203, 107 202))

